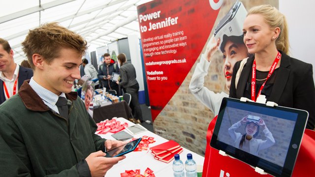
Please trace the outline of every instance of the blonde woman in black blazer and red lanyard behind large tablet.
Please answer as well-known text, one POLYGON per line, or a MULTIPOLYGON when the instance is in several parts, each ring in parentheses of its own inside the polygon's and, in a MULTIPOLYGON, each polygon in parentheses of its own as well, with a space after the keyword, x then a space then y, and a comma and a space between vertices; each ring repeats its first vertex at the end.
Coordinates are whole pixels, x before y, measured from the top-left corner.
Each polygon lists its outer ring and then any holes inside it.
POLYGON ((285 17, 271 5, 252 7, 245 19, 244 43, 252 57, 235 76, 240 61, 235 63, 229 96, 256 101, 262 94, 267 101, 280 106, 309 112, 306 128, 315 127, 315 86, 312 64, 293 59, 289 52, 285 17))

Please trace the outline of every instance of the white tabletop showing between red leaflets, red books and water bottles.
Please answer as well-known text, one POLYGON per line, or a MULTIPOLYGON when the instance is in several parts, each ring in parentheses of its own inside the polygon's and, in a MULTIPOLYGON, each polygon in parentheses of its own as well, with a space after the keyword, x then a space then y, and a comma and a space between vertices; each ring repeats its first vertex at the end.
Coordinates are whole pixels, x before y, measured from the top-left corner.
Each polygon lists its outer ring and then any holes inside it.
MULTIPOLYGON (((128 126, 134 125, 134 123, 130 122, 129 120, 126 120, 125 118, 117 118, 117 120, 121 121, 122 123, 127 122, 128 126)), ((107 133, 107 134, 99 134, 102 138, 115 140, 111 135, 113 133, 107 133)), ((149 147, 153 147, 156 145, 159 145, 161 143, 167 142, 168 140, 158 136, 157 134, 154 134, 150 132, 149 130, 133 135, 135 138, 140 138, 142 136, 149 136, 154 137, 155 143, 150 144, 149 147)), ((176 141, 176 140, 175 140, 176 141)), ((202 165, 204 161, 204 157, 201 155, 198 155, 184 147, 183 152, 180 153, 181 160, 185 163, 187 157, 186 155, 188 153, 192 154, 192 158, 196 161, 197 165, 202 165)), ((154 159, 154 156, 150 153, 150 150, 145 151, 134 151, 131 153, 126 154, 126 159, 120 161, 118 164, 114 165, 113 168, 111 168, 105 177, 120 177, 121 173, 124 173, 125 170, 136 170, 140 169, 141 174, 144 173, 144 171, 149 167, 151 170, 154 171, 154 174, 156 177, 172 177, 173 176, 173 169, 172 169, 172 163, 173 161, 169 163, 164 163, 161 161, 158 161, 154 159)))

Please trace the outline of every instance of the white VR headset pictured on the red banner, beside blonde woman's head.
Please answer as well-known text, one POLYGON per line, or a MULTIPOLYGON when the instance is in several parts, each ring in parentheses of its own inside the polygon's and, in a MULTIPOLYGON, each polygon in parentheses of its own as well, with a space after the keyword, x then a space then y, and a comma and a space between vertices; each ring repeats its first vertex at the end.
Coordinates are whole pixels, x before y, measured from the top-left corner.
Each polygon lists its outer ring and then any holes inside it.
POLYGON ((247 10, 243 3, 236 1, 228 13, 221 19, 214 33, 216 40, 220 38, 219 49, 221 52, 221 44, 225 37, 243 35, 243 24, 246 16, 247 10))

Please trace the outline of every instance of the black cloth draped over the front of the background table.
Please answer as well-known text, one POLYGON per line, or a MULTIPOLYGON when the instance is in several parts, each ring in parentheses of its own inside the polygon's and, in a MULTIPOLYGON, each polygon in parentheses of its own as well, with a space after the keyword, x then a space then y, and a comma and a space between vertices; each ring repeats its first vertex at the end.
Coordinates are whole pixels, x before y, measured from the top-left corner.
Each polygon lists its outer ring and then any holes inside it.
POLYGON ((126 101, 113 103, 110 105, 95 108, 93 111, 93 119, 96 123, 112 119, 114 117, 122 117, 128 119, 131 115, 131 108, 126 101))

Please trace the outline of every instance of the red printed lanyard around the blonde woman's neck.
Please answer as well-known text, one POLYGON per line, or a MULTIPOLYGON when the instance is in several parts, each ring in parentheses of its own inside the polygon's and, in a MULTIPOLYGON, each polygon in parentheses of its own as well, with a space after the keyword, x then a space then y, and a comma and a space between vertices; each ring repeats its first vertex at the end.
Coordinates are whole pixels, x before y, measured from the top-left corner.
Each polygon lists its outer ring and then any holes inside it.
POLYGON ((258 96, 260 95, 261 93, 261 90, 264 88, 267 80, 270 78, 270 76, 272 75, 272 73, 274 73, 275 69, 276 69, 276 66, 279 62, 279 60, 281 59, 281 53, 278 52, 277 54, 277 57, 274 61, 274 63, 272 64, 271 68, 270 68, 270 71, 267 75, 267 78, 265 80, 265 82, 262 84, 262 86, 260 87, 259 91, 258 91, 258 94, 257 94, 257 97, 256 97, 256 61, 254 60, 254 62, 252 63, 252 86, 251 86, 251 90, 252 90, 252 101, 256 101, 256 99, 258 98, 258 96))

